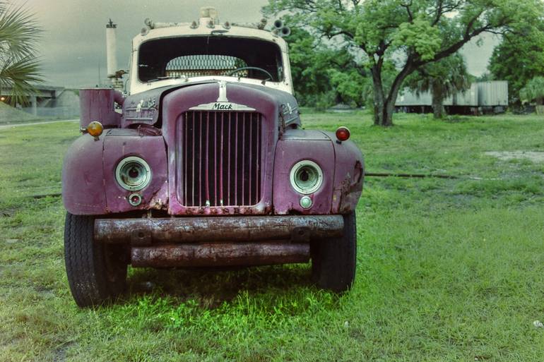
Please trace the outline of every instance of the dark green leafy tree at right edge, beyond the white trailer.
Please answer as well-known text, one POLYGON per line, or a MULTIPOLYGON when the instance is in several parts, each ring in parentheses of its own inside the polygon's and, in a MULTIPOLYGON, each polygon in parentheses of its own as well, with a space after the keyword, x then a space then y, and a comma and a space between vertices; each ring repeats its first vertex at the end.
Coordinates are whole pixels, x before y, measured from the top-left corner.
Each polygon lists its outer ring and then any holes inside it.
POLYGON ((505 35, 487 68, 493 78, 508 80, 510 102, 521 102, 521 88, 536 76, 544 76, 544 23, 524 24, 505 35))

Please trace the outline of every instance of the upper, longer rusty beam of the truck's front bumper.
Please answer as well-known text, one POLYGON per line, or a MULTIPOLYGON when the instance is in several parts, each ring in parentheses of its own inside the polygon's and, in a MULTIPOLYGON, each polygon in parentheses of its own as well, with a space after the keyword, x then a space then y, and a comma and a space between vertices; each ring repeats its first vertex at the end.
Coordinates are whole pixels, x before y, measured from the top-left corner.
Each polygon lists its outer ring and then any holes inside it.
POLYGON ((340 237, 343 226, 342 215, 96 219, 95 241, 140 245, 151 241, 309 241, 340 237))

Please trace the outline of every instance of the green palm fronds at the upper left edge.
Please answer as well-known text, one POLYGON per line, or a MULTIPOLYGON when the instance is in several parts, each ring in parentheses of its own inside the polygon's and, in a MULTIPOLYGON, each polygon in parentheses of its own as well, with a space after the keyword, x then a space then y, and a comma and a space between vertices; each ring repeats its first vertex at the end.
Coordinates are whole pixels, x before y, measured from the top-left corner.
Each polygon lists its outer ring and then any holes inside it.
POLYGON ((35 56, 41 33, 32 13, 0 0, 0 94, 11 88, 11 104, 27 103, 35 92, 32 83, 43 81, 35 56))

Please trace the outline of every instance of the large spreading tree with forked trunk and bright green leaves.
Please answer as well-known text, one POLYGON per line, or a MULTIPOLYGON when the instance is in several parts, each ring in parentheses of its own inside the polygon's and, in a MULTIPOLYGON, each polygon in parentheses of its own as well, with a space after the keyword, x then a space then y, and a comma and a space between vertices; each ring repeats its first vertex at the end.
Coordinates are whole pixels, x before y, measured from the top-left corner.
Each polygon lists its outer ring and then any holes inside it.
POLYGON ((483 32, 531 23, 528 18, 540 8, 539 0, 269 0, 263 12, 287 11, 296 26, 361 52, 362 68, 372 75, 374 123, 391 126, 398 91, 413 71, 454 54, 483 32), (390 87, 383 79, 388 59, 397 69, 390 87))

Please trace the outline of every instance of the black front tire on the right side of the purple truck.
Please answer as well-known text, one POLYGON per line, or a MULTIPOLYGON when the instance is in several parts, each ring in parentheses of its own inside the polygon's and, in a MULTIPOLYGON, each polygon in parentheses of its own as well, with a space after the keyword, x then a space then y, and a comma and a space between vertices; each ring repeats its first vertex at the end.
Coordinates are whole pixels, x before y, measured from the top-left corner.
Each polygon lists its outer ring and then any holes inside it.
POLYGON ((355 211, 344 215, 341 238, 312 241, 312 279, 321 289, 340 293, 351 288, 357 263, 355 211))

